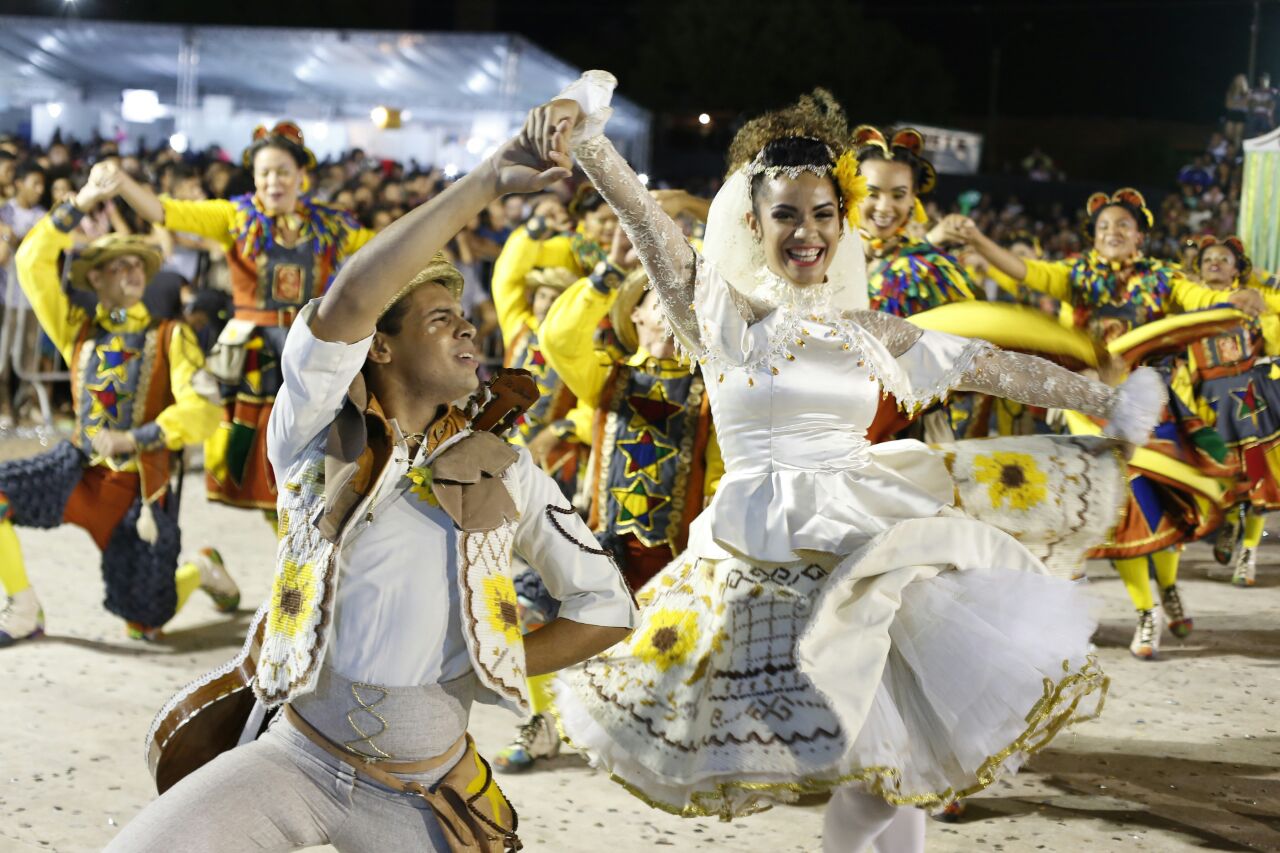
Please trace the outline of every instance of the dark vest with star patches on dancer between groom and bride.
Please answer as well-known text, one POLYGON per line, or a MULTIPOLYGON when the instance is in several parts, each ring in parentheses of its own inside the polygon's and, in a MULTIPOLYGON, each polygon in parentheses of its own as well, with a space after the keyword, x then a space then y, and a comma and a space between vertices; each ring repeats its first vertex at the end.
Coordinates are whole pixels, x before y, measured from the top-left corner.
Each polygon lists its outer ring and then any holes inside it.
POLYGON ((703 508, 710 406, 701 374, 657 377, 617 365, 600 400, 589 471, 591 530, 680 553, 703 508))

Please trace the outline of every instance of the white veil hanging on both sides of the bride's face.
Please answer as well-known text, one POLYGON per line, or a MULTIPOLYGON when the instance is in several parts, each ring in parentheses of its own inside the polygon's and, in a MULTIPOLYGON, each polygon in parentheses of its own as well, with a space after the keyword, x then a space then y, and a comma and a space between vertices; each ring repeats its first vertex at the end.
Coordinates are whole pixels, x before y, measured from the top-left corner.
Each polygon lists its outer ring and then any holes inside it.
MULTIPOLYGON (((703 238, 703 256, 710 261, 733 289, 756 302, 774 301, 762 292, 777 277, 764 268, 764 255, 746 224, 751 210, 749 165, 737 169, 712 201, 703 238)), ((858 229, 845 223, 840 243, 827 269, 829 305, 837 311, 868 307, 867 261, 858 229)), ((790 286, 795 291, 804 288, 790 286)), ((772 295, 771 295, 772 296, 772 295)))

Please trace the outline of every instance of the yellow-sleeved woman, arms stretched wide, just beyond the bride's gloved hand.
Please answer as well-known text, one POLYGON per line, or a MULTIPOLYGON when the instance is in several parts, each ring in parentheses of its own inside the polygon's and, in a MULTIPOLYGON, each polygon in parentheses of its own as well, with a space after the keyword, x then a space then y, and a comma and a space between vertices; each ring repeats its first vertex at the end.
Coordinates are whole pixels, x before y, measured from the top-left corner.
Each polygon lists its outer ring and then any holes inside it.
MULTIPOLYGON (((1236 291, 1224 297, 1211 287, 1188 280, 1176 266, 1144 255, 1143 243, 1155 218, 1137 190, 1117 190, 1111 196, 1094 193, 1085 209, 1093 248, 1074 260, 1018 257, 982 234, 965 216, 948 216, 942 228, 1025 287, 1070 305, 1075 325, 1102 343, 1175 310, 1190 311, 1224 302, 1252 314, 1265 307, 1256 291, 1236 291)), ((1164 359, 1156 368, 1166 383, 1172 380, 1171 359, 1164 359)), ((1167 429, 1157 430, 1149 450, 1175 462, 1185 459, 1188 448, 1167 414, 1164 424, 1167 429)), ((1149 661, 1160 651, 1161 637, 1161 613, 1156 611, 1151 592, 1151 567, 1155 567, 1169 630, 1175 637, 1187 637, 1194 622, 1176 587, 1180 548, 1217 525, 1219 507, 1216 496, 1206 494, 1178 471, 1135 466, 1133 473, 1124 524, 1116 530, 1114 542, 1094 556, 1112 558, 1124 580, 1138 611, 1129 651, 1149 661)))

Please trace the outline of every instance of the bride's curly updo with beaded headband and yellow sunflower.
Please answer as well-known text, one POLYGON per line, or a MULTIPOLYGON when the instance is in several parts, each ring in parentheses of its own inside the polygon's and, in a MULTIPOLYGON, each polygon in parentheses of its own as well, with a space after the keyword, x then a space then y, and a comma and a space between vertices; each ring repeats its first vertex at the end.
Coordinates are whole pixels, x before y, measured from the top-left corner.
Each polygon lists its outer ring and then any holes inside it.
POLYGON ((730 145, 730 174, 739 170, 746 178, 801 173, 831 175, 840 191, 840 206, 851 227, 858 227, 858 205, 867 197, 867 181, 858 174, 858 160, 847 150, 845 111, 824 88, 801 95, 794 105, 751 119, 733 136, 730 145), (782 140, 814 143, 826 151, 824 161, 771 164, 769 152, 782 140))

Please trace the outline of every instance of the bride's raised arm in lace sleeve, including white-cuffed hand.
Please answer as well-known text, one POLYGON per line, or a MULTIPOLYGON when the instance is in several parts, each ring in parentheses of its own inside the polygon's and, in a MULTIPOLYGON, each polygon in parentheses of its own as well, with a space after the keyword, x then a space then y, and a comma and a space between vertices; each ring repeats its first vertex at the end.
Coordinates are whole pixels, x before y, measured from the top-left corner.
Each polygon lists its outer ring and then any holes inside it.
POLYGON ((586 72, 554 101, 538 108, 536 127, 541 131, 538 143, 549 152, 568 137, 573 156, 613 207, 635 246, 672 330, 686 348, 696 351, 701 348, 691 309, 696 256, 680 225, 604 136, 614 86, 612 74, 586 72))

